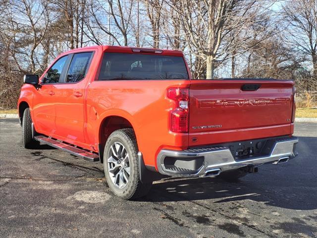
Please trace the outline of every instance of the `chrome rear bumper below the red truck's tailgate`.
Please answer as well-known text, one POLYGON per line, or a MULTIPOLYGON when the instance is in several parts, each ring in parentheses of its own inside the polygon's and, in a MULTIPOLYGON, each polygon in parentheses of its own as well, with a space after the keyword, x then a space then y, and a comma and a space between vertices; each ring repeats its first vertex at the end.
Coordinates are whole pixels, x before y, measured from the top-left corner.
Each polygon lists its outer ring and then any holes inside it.
MULTIPOLYGON (((296 137, 277 139, 269 147, 269 153, 262 156, 249 156, 247 159, 235 160, 228 147, 217 146, 209 148, 194 148, 183 151, 161 150, 157 157, 159 173, 174 177, 207 177, 217 176, 223 171, 238 169, 245 166, 262 165, 266 163, 281 164, 297 156, 295 145, 298 143, 296 137), (167 158, 166 158, 167 157, 167 158), (189 170, 181 166, 166 165, 164 161, 173 159, 194 161, 203 159, 201 167, 189 170), (192 160, 191 160, 192 159, 192 160)), ((185 161, 185 162, 184 162, 185 161)), ((191 162, 192 163, 192 162, 191 162)))

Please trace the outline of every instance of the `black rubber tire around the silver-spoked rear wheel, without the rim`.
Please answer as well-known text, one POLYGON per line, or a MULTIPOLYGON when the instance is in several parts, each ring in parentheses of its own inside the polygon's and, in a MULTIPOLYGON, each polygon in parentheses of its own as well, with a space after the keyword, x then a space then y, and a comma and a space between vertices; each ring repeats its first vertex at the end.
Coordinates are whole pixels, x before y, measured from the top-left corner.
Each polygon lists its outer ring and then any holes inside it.
MULTIPOLYGON (((133 129, 119 129, 111 133, 106 141, 106 146, 104 150, 104 170, 106 181, 111 189, 111 191, 118 197, 124 200, 134 200, 140 197, 145 196, 151 189, 151 183, 142 183, 140 181, 139 175, 139 164, 137 159, 138 153, 138 145, 135 138, 135 134, 133 129), (111 180, 110 172, 108 171, 109 163, 108 163, 108 154, 112 153, 111 146, 114 145, 115 142, 121 143, 129 156, 129 170, 130 175, 129 179, 126 182, 125 186, 120 188, 111 180)), ((121 167, 119 167, 121 169, 121 167)), ((112 176, 114 178, 114 176, 112 176)))

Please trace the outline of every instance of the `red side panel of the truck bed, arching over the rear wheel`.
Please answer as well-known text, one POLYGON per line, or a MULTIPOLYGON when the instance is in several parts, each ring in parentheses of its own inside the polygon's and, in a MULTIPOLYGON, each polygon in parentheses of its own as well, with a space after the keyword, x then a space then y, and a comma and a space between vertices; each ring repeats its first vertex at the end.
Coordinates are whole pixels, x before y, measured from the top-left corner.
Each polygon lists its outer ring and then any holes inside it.
POLYGON ((89 143, 98 145, 97 135, 104 119, 119 116, 132 124, 146 165, 155 166, 161 148, 187 148, 188 133, 169 131, 172 104, 166 92, 169 87, 186 87, 189 83, 189 80, 93 81, 87 94, 89 143))

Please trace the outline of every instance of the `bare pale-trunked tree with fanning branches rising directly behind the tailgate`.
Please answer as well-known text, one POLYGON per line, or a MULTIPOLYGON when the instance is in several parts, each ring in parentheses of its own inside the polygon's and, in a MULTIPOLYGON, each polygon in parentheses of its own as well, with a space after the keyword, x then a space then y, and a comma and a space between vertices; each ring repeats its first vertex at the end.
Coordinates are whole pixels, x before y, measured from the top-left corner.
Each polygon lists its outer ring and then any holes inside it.
MULTIPOLYGON (((257 0, 173 0, 171 5, 180 14, 188 46, 196 57, 206 60, 207 78, 214 77, 214 68, 233 41, 224 41, 230 32, 236 34, 250 19, 246 13, 257 0), (226 43, 226 45, 223 45, 226 43)), ((222 60, 226 59, 224 57, 222 60)))

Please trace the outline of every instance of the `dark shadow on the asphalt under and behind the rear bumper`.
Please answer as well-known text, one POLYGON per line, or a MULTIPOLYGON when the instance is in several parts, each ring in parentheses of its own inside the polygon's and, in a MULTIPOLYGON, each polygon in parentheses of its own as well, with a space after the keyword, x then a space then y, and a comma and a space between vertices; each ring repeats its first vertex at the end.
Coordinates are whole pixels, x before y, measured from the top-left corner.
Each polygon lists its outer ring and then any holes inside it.
POLYGON ((317 137, 299 137, 299 156, 283 165, 265 165, 239 182, 218 178, 164 179, 152 187, 149 201, 212 199, 212 203, 254 200, 295 210, 317 209, 317 137))

